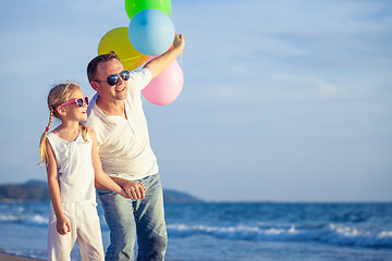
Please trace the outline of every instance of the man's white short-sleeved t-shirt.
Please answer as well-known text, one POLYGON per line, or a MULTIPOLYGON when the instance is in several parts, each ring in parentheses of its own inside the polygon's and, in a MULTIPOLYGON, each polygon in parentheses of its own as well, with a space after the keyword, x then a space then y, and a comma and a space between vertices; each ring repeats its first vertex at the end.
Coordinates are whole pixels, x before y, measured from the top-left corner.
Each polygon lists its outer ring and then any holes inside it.
POLYGON ((97 133, 102 169, 109 176, 135 181, 158 173, 140 97, 151 78, 147 69, 131 72, 125 99, 127 119, 106 115, 96 105, 98 92, 88 105, 86 126, 97 133))

